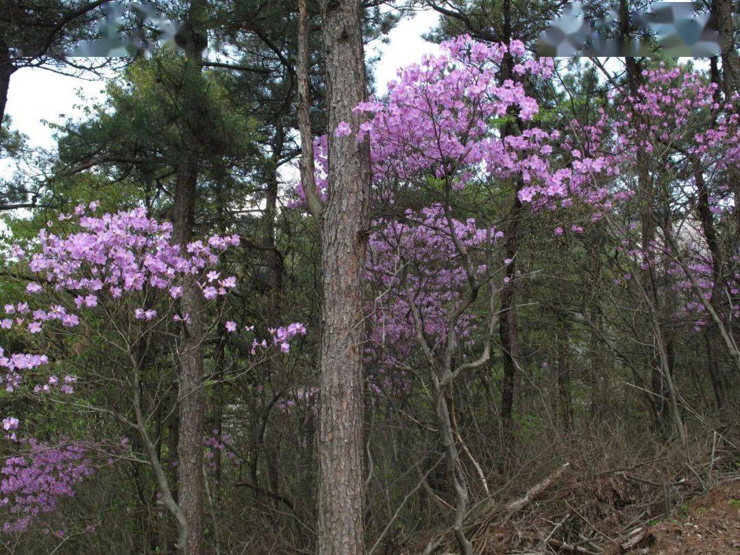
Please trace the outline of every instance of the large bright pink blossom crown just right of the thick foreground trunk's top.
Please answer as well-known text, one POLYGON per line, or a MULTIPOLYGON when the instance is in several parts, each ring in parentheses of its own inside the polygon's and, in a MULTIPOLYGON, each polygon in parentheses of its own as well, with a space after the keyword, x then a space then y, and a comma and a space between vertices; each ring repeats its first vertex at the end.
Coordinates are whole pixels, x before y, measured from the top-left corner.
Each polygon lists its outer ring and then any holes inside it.
MULTIPOLYGON (((520 133, 502 136, 505 122, 531 122, 539 111, 525 92, 523 76, 549 78, 551 58, 525 59, 519 41, 507 46, 460 36, 441 47, 439 55, 426 55, 420 64, 399 70, 385 98, 371 98, 354 109, 359 121, 354 136, 369 141, 380 196, 392 201, 393 193, 386 188, 399 180, 424 184, 431 175, 451 190, 517 178, 522 183, 519 200, 537 209, 570 206, 574 199, 608 209, 614 200, 628 197, 628 192, 597 183, 596 175, 613 174, 613 156, 587 155, 605 140, 604 112, 597 124, 585 129, 571 122, 579 132, 578 144, 557 129, 548 132, 533 123, 520 133), (514 61, 513 78, 502 78, 505 55, 514 61)), ((334 135, 351 131, 343 121, 334 135)), ((321 198, 326 198, 326 141, 326 135, 314 141, 321 198)), ((297 194, 303 199, 300 186, 297 194)))

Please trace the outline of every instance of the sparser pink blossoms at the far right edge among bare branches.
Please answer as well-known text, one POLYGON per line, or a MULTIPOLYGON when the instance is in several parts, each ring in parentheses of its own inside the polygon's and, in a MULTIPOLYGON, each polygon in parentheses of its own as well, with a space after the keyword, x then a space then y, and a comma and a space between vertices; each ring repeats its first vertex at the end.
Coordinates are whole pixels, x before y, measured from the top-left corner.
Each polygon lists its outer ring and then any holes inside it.
MULTIPOLYGON (((717 86, 708 83, 699 73, 690 73, 681 67, 659 67, 645 73, 645 84, 636 95, 628 95, 617 106, 616 144, 622 171, 634 169, 639 152, 650 155, 650 172, 665 181, 676 184, 671 195, 676 202, 691 199, 708 204, 710 218, 719 218, 736 210, 737 183, 740 178, 740 114, 737 111, 740 95, 724 104, 716 100, 717 86), (701 183, 696 182, 696 170, 701 172, 701 183), (689 179, 679 177, 690 175, 689 179), (703 199, 703 200, 702 200, 703 199)), ((715 225, 718 225, 715 223, 715 225)), ((707 237, 697 215, 690 215, 684 232, 676 232, 683 252, 673 253, 666 246, 665 256, 676 255, 687 260, 688 268, 699 285, 701 295, 712 298, 716 290, 713 257, 707 237)), ((643 257, 645 269, 650 264, 650 252, 643 257)), ((736 267, 736 252, 728 252, 724 261, 727 269, 736 267)), ((667 276, 672 278, 674 291, 682 293, 684 306, 680 313, 693 320, 695 328, 702 329, 707 322, 706 307, 693 290, 684 269, 675 261, 667 264, 667 276)), ((721 279, 720 304, 727 305, 727 313, 740 315, 738 303, 738 275, 728 272, 721 279)))

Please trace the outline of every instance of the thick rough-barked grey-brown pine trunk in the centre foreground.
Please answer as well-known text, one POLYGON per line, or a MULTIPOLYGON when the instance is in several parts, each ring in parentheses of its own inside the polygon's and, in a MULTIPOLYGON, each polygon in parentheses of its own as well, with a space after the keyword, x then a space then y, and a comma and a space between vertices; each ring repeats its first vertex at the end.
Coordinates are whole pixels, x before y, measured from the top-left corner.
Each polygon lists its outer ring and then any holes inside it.
POLYGON ((366 99, 358 0, 323 0, 329 107, 329 199, 323 209, 323 309, 319 408, 319 553, 364 552, 363 286, 369 228, 369 144, 352 108, 366 99))

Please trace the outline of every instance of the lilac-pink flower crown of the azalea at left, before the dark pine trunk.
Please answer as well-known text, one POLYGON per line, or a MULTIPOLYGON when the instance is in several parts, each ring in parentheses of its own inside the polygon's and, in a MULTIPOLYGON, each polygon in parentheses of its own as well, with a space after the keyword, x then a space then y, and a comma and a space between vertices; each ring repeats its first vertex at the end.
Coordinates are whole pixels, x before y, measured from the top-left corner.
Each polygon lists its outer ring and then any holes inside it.
MULTIPOLYGON (((239 243, 237 235, 215 235, 206 243, 200 240, 189 243, 186 253, 182 253, 172 244, 172 224, 147 218, 144 208, 100 217, 90 215, 97 207, 98 203, 80 205, 74 214, 61 215, 58 221, 77 227, 67 229, 65 235, 41 229, 36 238, 37 252, 30 256, 20 246, 14 246, 13 255, 19 261, 27 261, 36 280, 26 286, 27 300, 4 306, 2 329, 18 328, 39 334, 44 326, 53 323, 73 328, 80 325, 86 311, 98 305, 115 305, 124 294, 145 288, 163 289, 170 297, 179 297, 185 276, 201 275, 208 266, 218 262, 218 254, 239 243), (48 296, 58 302, 32 309, 30 303, 34 300, 47 298, 42 295, 47 288, 48 296), (70 292, 75 295, 71 299, 70 292)), ((47 223, 47 228, 52 226, 53 222, 47 223)), ((236 285, 235 277, 219 277, 218 272, 211 271, 199 283, 204 297, 226 295, 236 285)), ((134 311, 137 320, 152 320, 156 315, 155 309, 134 311)), ((7 391, 14 391, 21 383, 21 371, 30 377, 30 370, 48 362, 45 354, 4 356, 0 348, 0 367, 5 374, 0 380, 7 391)), ((52 375, 44 381, 36 383, 35 393, 58 388, 64 394, 72 394, 76 378, 65 375, 60 379, 52 375)))

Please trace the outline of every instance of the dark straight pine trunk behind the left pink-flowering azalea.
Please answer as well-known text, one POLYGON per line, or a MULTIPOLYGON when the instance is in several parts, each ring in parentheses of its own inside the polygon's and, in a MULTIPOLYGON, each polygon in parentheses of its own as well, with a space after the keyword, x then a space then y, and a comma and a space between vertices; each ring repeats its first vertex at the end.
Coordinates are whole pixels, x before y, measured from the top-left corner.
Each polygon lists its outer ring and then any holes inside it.
MULTIPOLYGON (((185 33, 185 60, 181 87, 182 152, 175 183, 175 241, 185 249, 195 226, 196 186, 200 169, 198 133, 202 116, 203 75, 201 58, 207 45, 206 0, 192 0, 185 33)), ((203 297, 192 276, 182 296, 182 311, 189 314, 180 352, 178 375, 178 503, 187 525, 181 553, 201 555, 203 547, 203 297)), ((179 534, 182 536, 182 534, 179 534)))

